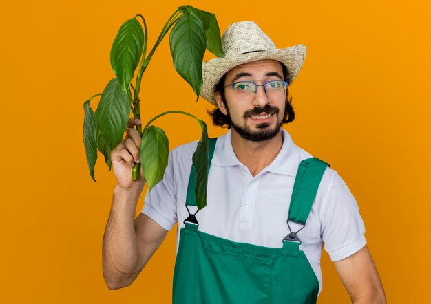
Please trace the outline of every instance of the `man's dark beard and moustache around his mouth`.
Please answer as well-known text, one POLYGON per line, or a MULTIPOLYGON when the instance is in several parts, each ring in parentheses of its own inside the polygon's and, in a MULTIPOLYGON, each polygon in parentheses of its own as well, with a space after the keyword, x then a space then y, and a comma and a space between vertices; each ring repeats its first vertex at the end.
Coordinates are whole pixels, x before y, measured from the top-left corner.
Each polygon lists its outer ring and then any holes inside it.
MULTIPOLYGON (((278 117, 278 113, 280 109, 278 107, 273 107, 271 105, 265 105, 265 107, 254 107, 253 109, 246 111, 244 113, 244 118, 248 118, 250 116, 256 116, 260 113, 271 113, 271 115, 275 115, 278 117)), ((229 115, 229 110, 228 110, 229 115)), ((249 126, 240 127, 238 124, 235 124, 231 120, 232 128, 240 135, 242 138, 246 140, 251 140, 253 142, 262 142, 264 140, 271 140, 275 138, 275 136, 280 132, 280 128, 282 127, 283 121, 277 122, 277 126, 274 129, 269 128, 269 123, 264 122, 262 124, 257 124, 257 130, 251 130, 249 126)))

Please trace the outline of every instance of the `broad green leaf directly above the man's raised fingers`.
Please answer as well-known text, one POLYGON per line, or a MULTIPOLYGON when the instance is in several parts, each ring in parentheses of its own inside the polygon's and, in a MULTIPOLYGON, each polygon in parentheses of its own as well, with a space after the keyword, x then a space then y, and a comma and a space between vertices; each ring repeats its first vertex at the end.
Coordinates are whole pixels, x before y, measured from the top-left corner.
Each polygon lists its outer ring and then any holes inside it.
POLYGON ((129 96, 120 89, 118 78, 109 81, 103 90, 95 117, 97 129, 101 131, 105 144, 111 150, 123 140, 123 133, 129 120, 130 101, 129 96))

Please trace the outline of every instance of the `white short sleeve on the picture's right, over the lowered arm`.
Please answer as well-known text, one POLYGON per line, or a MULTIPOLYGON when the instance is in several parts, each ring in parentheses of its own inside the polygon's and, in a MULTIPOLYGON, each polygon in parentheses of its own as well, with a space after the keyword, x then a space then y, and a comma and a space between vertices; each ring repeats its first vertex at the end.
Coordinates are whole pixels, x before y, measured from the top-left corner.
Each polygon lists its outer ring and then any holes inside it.
POLYGON ((345 259, 365 246, 365 226, 350 189, 336 174, 322 214, 322 240, 331 261, 345 259))

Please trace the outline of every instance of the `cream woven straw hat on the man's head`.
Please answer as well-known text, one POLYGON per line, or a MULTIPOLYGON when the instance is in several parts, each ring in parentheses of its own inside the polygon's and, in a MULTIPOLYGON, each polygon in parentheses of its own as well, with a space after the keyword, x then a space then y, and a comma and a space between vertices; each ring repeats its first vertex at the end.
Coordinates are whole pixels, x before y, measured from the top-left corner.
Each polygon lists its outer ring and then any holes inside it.
POLYGON ((204 83, 200 95, 213 105, 216 105, 215 85, 233 67, 251 61, 274 59, 286 65, 289 72, 287 82, 291 84, 302 67, 307 50, 305 45, 277 49, 269 36, 253 21, 242 21, 229 25, 222 36, 222 48, 223 57, 202 63, 204 83))

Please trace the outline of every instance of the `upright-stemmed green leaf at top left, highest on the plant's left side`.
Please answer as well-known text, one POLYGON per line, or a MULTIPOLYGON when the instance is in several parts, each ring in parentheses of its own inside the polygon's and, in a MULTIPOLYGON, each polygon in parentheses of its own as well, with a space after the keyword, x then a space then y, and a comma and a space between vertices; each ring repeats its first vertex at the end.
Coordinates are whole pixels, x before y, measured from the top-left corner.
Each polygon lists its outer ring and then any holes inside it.
POLYGON ((132 82, 135 69, 138 67, 143 45, 143 28, 135 18, 129 19, 121 25, 114 43, 112 43, 111 66, 114 74, 120 80, 120 87, 125 94, 132 82))

